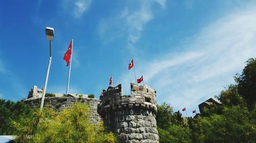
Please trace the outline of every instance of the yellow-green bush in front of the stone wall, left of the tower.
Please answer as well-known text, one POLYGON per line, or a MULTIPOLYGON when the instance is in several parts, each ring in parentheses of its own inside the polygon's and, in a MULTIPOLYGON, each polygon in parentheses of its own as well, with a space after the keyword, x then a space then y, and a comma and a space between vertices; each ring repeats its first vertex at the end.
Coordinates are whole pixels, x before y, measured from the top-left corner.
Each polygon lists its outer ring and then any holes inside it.
POLYGON ((76 103, 59 114, 50 108, 35 110, 33 116, 22 123, 15 123, 17 142, 105 142, 116 137, 106 132, 103 123, 93 125, 88 119, 89 107, 76 103))

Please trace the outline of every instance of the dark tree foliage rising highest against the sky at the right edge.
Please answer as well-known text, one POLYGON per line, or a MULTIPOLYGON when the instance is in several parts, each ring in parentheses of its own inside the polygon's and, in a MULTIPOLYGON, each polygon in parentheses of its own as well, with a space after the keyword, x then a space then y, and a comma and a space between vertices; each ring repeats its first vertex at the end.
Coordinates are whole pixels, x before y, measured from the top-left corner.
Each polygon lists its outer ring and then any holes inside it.
POLYGON ((244 98, 250 110, 255 108, 256 101, 256 58, 246 61, 241 75, 235 77, 238 83, 238 93, 244 98))

